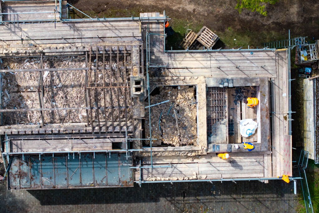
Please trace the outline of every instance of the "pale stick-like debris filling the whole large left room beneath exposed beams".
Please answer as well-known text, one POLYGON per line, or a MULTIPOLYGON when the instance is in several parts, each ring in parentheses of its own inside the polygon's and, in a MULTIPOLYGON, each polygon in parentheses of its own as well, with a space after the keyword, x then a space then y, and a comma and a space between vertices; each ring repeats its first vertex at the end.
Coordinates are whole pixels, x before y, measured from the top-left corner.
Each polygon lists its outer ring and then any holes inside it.
MULTIPOLYGON (((130 107, 130 94, 126 83, 124 57, 119 58, 119 64, 112 62, 109 69, 109 58, 105 58, 103 71, 103 61, 99 57, 98 65, 96 59, 91 59, 92 70, 88 72, 88 101, 91 101, 92 107, 102 107, 99 110, 100 120, 106 118, 111 119, 113 109, 114 121, 125 121, 125 115, 131 115, 130 109, 119 109, 118 106, 125 105, 130 107), (98 66, 99 70, 96 71, 98 66), (117 67, 119 67, 117 71, 117 67), (101 88, 115 86, 115 88, 101 88), (112 94, 112 99, 110 98, 112 94), (104 100, 105 97, 105 100, 104 100), (98 100, 98 103, 95 103, 98 100), (111 103, 112 101, 112 103, 111 103), (106 110, 104 110, 106 106, 106 110), (119 111, 120 110, 120 111, 119 111), (120 118, 119 118, 120 116, 120 118)), ((112 61, 116 61, 116 56, 112 57, 112 61)), ((39 79, 40 72, 15 72, 16 69, 39 69, 41 68, 40 57, 29 58, 5 58, 3 59, 4 69, 12 70, 12 72, 2 73, 2 108, 3 109, 31 109, 40 108, 39 103, 39 79)), ((60 56, 60 57, 44 57, 43 68, 79 68, 85 67, 85 57, 83 56, 60 56)), ((85 71, 44 71, 43 86, 44 98, 43 108, 70 108, 86 107, 85 104, 85 71)), ((129 74, 127 74, 129 76, 129 74)), ((41 87, 40 87, 41 91, 41 87)), ((40 111, 26 112, 5 112, 4 124, 41 124, 40 111)), ((93 120, 97 119, 96 110, 92 110, 93 120)), ((90 115, 89 115, 90 116, 90 115)), ((85 109, 75 110, 45 110, 44 120, 46 123, 86 123, 87 112, 85 109)), ((130 118, 127 118, 130 120, 130 118)))

